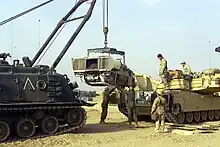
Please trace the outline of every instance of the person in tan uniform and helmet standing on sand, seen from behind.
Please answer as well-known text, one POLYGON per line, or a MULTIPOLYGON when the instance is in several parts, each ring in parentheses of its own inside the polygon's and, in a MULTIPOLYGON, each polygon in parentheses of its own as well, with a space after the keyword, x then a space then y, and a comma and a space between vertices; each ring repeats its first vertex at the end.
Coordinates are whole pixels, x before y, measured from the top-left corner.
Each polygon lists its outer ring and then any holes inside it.
POLYGON ((158 132, 164 132, 165 129, 165 108, 167 105, 166 99, 163 97, 164 90, 157 90, 157 98, 154 100, 152 109, 151 109, 151 115, 155 116, 155 131, 158 132))

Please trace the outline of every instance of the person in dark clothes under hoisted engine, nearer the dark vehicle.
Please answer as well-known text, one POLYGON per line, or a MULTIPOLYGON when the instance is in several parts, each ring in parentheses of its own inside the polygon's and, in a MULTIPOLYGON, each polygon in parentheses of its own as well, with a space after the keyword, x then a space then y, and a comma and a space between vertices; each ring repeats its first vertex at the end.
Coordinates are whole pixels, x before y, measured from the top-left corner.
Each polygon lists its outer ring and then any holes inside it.
POLYGON ((115 90, 116 87, 108 86, 104 89, 102 95, 103 95, 103 101, 102 101, 102 113, 101 113, 101 118, 100 118, 100 123, 105 123, 105 119, 107 117, 108 113, 108 103, 110 101, 110 94, 115 90))

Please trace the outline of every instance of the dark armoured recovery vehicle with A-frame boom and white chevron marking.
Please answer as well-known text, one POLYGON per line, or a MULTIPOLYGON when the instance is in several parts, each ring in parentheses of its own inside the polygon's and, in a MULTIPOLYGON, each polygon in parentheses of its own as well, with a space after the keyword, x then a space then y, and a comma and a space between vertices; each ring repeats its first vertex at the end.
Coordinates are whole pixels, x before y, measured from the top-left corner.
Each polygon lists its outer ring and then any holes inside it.
MULTIPOLYGON (((57 24, 52 34, 40 48, 33 60, 23 57, 23 64, 14 60, 10 65, 8 54, 0 55, 0 141, 14 138, 34 138, 61 134, 82 127, 86 111, 82 106, 94 106, 79 99, 73 90, 77 83, 71 83, 67 75, 56 72, 55 68, 89 20, 96 0, 81 24, 71 36, 62 52, 51 67, 33 66, 60 27, 68 21, 76 9, 87 0, 78 1, 57 24)), ((73 20, 73 19, 72 19, 73 20)))

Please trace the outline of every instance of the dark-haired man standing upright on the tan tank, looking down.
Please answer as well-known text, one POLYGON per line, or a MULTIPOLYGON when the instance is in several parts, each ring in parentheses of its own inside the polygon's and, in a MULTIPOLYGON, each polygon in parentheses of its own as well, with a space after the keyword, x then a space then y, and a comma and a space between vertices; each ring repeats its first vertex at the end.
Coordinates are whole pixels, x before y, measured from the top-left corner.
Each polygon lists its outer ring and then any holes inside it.
POLYGON ((164 84, 164 87, 168 89, 169 86, 167 60, 161 54, 158 54, 157 58, 160 60, 159 76, 161 78, 162 83, 164 84))

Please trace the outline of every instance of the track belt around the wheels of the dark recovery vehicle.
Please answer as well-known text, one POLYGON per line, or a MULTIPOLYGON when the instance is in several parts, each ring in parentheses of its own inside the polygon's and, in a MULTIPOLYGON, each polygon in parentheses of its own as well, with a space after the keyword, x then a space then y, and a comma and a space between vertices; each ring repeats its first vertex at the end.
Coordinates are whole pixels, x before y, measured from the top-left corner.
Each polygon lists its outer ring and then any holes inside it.
MULTIPOLYGON (((19 104, 18 104, 19 105, 19 104)), ((68 132, 72 132, 72 131, 76 131, 77 129, 81 128, 82 126, 84 126, 84 124, 86 123, 86 119, 87 119, 87 112, 85 111, 84 108, 82 108, 81 106, 77 106, 77 105, 73 105, 73 103, 68 103, 68 104, 51 104, 51 103, 44 103, 42 104, 41 106, 37 106, 37 104, 35 105, 29 105, 29 106, 24 106, 24 105, 20 105, 20 106, 11 106, 11 107, 8 107, 9 105, 1 105, 0 107, 0 112, 1 113, 16 113, 16 112, 25 112, 25 115, 28 113, 28 112, 36 112, 37 110, 43 110, 44 113, 45 112, 55 112, 57 113, 58 111, 70 111, 70 110, 73 110, 73 109, 77 109, 77 110, 80 110, 81 112, 81 120, 80 120, 80 123, 78 123, 78 125, 76 126, 71 126, 71 125, 60 125, 60 121, 58 121, 59 123, 59 128, 57 129, 56 132, 54 133, 51 133, 51 134, 44 134, 43 132, 41 131, 38 131, 36 129, 35 131, 35 134, 31 137, 25 137, 25 138, 21 138, 21 137, 18 137, 17 135, 15 135, 14 133, 14 130, 15 129, 12 129, 10 128, 10 136, 8 136, 8 138, 4 141, 1 141, 0 143, 10 143, 10 142, 15 142, 15 141, 25 141, 27 139, 38 139, 38 138, 44 138, 44 137, 49 137, 49 136, 55 136, 55 135, 61 135, 61 134, 64 134, 64 133, 68 133, 68 132), (4 107, 2 107, 4 106, 4 107), (38 132, 37 132, 38 131, 38 132)), ((29 113, 29 114, 33 114, 33 113, 29 113)), ((47 114, 47 113, 46 113, 47 114)), ((30 116, 30 115, 29 115, 30 116)), ((49 116, 52 116, 52 115, 49 115, 49 116)), ((27 118, 30 118, 28 117, 27 115, 25 116, 27 118)), ((33 120, 33 119, 32 119, 33 120)), ((3 120, 4 121, 4 120, 3 120)), ((1 120, 1 122, 3 122, 1 120)), ((15 121, 15 119, 13 120, 13 122, 15 121)), ((6 122, 6 121, 4 121, 6 122)), ((12 127, 12 125, 10 125, 9 123, 7 123, 10 127, 12 127)))

